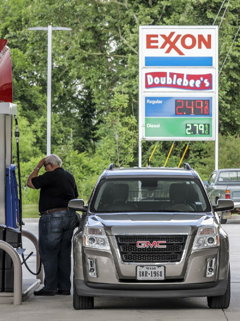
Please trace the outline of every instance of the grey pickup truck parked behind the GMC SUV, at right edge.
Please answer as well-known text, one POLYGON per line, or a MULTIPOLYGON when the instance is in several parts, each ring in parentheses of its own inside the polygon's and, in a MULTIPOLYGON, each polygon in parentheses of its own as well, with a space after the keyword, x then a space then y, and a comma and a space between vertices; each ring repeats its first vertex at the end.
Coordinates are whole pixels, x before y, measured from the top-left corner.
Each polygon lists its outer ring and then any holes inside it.
MULTIPOLYGON (((231 199, 234 207, 240 209, 240 169, 225 168, 214 170, 208 182, 204 181, 212 204, 217 204, 219 198, 231 199)), ((232 217, 230 211, 219 212, 222 224, 232 217)))

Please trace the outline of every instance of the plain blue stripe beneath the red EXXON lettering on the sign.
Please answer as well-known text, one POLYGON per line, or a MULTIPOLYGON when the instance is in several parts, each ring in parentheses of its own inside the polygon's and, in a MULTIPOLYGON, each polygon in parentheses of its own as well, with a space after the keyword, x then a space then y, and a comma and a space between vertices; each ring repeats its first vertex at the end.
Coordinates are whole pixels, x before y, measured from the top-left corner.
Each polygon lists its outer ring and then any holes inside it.
POLYGON ((145 57, 145 66, 212 66, 212 57, 145 57))

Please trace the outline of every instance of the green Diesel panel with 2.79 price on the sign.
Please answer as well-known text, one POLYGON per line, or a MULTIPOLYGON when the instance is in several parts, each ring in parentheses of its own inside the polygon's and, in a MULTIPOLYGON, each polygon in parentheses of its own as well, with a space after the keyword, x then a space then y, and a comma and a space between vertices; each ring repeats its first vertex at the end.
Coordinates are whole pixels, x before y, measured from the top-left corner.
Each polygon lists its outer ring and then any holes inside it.
POLYGON ((208 140, 212 137, 212 117, 145 117, 145 137, 179 137, 201 138, 208 140))

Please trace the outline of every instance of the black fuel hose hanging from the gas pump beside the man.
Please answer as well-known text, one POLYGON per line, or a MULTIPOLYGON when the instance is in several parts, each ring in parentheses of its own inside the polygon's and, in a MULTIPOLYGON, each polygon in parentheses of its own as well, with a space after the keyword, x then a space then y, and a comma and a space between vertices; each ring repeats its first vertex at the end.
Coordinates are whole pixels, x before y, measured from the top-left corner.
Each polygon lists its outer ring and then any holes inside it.
MULTIPOLYGON (((18 184, 19 184, 19 222, 18 222, 18 227, 20 229, 20 231, 22 231, 22 188, 21 188, 21 171, 20 171, 20 158, 19 158, 19 136, 20 136, 20 132, 19 132, 19 129, 18 129, 18 120, 17 120, 17 116, 14 115, 14 118, 15 118, 15 123, 16 123, 16 128, 15 128, 15 137, 16 137, 16 145, 17 145, 17 165, 18 165, 18 184)), ((21 248, 22 248, 22 239, 21 239, 21 248)), ((31 252, 29 254, 29 256, 31 256, 33 254, 33 252, 31 252)), ((37 275, 41 272, 41 268, 42 268, 42 262, 41 262, 41 259, 40 259, 40 263, 39 263, 39 269, 37 271, 37 273, 34 273, 32 272, 27 263, 26 263, 26 260, 29 258, 29 256, 25 259, 23 253, 22 253, 22 264, 24 264, 27 268, 27 270, 33 274, 33 275, 37 275)))

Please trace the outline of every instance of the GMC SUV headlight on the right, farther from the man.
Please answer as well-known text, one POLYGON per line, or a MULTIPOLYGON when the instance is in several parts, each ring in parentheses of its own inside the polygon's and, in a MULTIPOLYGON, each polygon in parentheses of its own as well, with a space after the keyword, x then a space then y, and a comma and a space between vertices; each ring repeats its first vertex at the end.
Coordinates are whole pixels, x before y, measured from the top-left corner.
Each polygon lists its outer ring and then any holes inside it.
POLYGON ((193 250, 219 246, 219 233, 216 227, 202 226, 197 230, 193 250))

